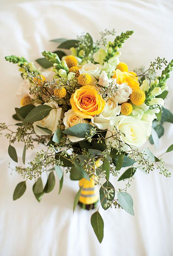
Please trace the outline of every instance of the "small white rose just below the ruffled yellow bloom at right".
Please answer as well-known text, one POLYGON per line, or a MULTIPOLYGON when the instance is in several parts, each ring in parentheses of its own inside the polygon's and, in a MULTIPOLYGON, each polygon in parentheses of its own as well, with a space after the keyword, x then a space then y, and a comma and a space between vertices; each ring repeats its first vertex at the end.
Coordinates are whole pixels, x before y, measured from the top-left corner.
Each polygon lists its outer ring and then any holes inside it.
POLYGON ((115 98, 117 99, 119 104, 127 102, 130 99, 130 95, 132 93, 132 88, 127 84, 118 85, 118 91, 115 94, 115 98))

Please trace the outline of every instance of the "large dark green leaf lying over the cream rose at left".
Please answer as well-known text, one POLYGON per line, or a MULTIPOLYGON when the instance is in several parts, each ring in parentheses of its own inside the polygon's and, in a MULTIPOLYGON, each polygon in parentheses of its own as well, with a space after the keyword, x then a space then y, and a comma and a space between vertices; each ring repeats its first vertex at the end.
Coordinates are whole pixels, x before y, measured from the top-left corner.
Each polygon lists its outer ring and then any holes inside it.
POLYGON ((44 117, 49 115, 52 109, 53 108, 48 105, 38 105, 37 107, 33 108, 33 110, 29 112, 29 114, 27 114, 27 116, 24 119, 24 122, 33 123, 42 120, 44 117))

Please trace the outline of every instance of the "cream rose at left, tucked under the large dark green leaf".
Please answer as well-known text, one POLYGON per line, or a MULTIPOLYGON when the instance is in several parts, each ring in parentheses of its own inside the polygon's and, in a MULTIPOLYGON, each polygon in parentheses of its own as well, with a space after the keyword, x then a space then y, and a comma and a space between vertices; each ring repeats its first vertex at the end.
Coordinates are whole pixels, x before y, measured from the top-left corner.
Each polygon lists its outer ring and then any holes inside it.
POLYGON ((47 135, 46 132, 42 131, 37 127, 38 125, 51 130, 52 133, 55 133, 57 129, 58 121, 61 120, 62 108, 58 108, 58 104, 56 104, 54 101, 51 101, 49 103, 44 103, 43 105, 48 105, 54 109, 51 110, 49 115, 44 117, 44 119, 33 123, 34 131, 38 135, 47 135))

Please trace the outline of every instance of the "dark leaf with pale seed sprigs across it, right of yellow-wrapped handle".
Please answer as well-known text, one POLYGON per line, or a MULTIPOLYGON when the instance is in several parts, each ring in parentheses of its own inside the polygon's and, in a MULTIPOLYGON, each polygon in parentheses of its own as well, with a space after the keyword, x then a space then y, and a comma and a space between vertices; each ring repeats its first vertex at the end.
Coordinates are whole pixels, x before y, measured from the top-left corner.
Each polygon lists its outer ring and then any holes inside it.
POLYGON ((100 203, 104 210, 107 210, 115 197, 115 189, 110 181, 106 180, 106 182, 100 187, 100 203))

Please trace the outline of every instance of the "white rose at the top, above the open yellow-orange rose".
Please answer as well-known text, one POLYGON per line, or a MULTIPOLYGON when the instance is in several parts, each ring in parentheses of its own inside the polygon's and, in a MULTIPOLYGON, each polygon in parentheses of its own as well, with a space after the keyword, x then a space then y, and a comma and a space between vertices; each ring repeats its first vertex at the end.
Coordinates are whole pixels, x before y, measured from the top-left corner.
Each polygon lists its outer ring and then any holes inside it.
POLYGON ((82 66, 81 69, 79 69, 80 74, 88 73, 91 76, 91 83, 90 85, 93 85, 96 81, 96 78, 99 78, 100 72, 101 72, 102 65, 100 64, 93 64, 93 63, 87 63, 82 66), (94 76, 96 78, 94 78, 94 76))

